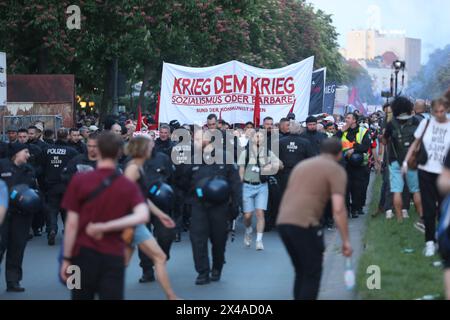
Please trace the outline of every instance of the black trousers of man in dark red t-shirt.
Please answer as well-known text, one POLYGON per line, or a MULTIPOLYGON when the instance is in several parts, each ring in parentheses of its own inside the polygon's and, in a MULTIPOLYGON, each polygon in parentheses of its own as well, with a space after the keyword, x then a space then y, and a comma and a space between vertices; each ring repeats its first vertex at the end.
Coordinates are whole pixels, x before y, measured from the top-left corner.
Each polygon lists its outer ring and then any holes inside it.
POLYGON ((80 268, 81 288, 72 290, 72 300, 123 300, 125 286, 124 257, 81 248, 73 264, 80 268))

